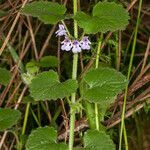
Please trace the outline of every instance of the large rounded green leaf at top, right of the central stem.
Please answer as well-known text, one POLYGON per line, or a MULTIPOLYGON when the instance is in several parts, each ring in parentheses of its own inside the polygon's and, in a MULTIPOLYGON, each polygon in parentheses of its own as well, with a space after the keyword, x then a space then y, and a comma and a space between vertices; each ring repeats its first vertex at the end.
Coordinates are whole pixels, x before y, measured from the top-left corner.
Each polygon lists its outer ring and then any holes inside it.
POLYGON ((77 12, 74 19, 86 33, 97 33, 125 29, 129 15, 122 5, 114 2, 99 2, 94 6, 92 16, 77 12))

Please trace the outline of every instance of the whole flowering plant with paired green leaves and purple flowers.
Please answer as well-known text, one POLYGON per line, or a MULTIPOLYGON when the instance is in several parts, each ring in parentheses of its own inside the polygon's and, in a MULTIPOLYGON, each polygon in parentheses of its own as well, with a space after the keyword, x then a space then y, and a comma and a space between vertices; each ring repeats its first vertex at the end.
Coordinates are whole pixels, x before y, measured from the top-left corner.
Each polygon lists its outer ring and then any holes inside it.
MULTIPOLYGON (((73 55, 71 79, 60 82, 61 76, 56 71, 51 69, 39 73, 38 69, 35 68, 36 71, 27 68, 25 74, 27 76, 22 77, 32 77, 26 84, 35 101, 67 100, 70 106, 70 129, 69 134, 66 135, 66 137, 69 136, 69 150, 72 150, 74 145, 76 116, 82 118, 83 115, 87 117, 90 128, 83 137, 84 147, 86 149, 94 147, 94 149, 100 150, 101 144, 97 141, 101 138, 105 149, 113 150, 115 146, 112 140, 100 126, 102 126, 101 121, 104 119, 107 108, 115 100, 117 94, 126 87, 127 80, 115 69, 99 66, 102 53, 101 45, 104 33, 125 29, 129 15, 122 5, 113 2, 98 2, 93 7, 91 15, 78 11, 77 6, 77 0, 73 0, 73 15, 65 14, 66 7, 64 5, 48 1, 29 3, 21 10, 21 13, 37 17, 45 24, 54 25, 61 22, 55 32, 56 37, 61 37, 59 38, 61 40, 61 52, 67 51, 73 55), (74 36, 70 36, 65 23, 66 19, 73 19, 74 36), (79 38, 79 28, 83 31, 81 38, 79 38), (97 40, 96 46, 90 41, 89 34, 97 35, 98 40, 95 38, 97 40), (86 71, 81 72, 81 78, 78 79, 78 54, 89 50, 93 54, 91 56, 92 69, 85 69, 86 71)), ((43 65, 43 61, 45 60, 41 59, 38 62, 39 66, 43 65)), ((40 146, 47 147, 47 149, 51 149, 53 146, 57 149, 68 149, 65 143, 56 142, 56 131, 50 127, 38 128, 29 136, 26 143, 27 150, 40 146), (48 133, 50 137, 47 136, 48 133)))

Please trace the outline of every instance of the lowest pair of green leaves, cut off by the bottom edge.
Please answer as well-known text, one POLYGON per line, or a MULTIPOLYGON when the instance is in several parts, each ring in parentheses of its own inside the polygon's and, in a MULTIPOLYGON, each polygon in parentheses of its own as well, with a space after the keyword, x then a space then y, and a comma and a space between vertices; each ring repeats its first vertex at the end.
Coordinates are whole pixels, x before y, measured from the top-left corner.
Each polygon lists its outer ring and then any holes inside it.
MULTIPOLYGON (((52 127, 40 127, 30 134, 26 150, 68 150, 64 143, 57 143, 57 133, 52 127)), ((75 148, 83 149, 83 148, 75 148)), ((115 145, 103 131, 88 130, 84 135, 85 150, 115 150, 115 145)))

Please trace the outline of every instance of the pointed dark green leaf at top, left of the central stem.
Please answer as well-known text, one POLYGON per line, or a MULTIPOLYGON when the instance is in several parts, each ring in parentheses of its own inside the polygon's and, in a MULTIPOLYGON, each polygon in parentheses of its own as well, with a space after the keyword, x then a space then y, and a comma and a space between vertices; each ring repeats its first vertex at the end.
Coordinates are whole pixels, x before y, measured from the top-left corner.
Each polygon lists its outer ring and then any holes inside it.
POLYGON ((26 15, 38 17, 45 24, 55 24, 64 19, 66 8, 54 2, 35 1, 27 4, 21 12, 26 15))

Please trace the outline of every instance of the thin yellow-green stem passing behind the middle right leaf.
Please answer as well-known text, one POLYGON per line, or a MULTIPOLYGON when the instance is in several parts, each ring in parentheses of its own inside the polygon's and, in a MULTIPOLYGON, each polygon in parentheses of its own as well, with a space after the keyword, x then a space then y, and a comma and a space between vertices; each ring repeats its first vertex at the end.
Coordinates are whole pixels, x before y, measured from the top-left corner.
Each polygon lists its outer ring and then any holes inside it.
MULTIPOLYGON (((96 52, 96 62, 95 62, 95 68, 98 68, 99 65, 99 57, 101 53, 101 43, 102 43, 103 34, 101 33, 100 39, 98 41, 98 47, 96 52)), ((95 103, 95 123, 96 123, 96 129, 99 130, 99 117, 98 117, 98 104, 95 103)))

